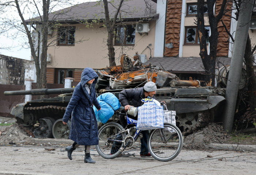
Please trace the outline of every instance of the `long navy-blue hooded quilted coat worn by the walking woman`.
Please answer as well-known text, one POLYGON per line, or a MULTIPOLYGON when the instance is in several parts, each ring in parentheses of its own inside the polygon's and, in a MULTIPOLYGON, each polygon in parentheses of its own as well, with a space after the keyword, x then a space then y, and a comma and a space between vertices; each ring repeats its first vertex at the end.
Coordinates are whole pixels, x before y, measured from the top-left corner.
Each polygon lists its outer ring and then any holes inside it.
POLYGON ((98 125, 92 105, 97 109, 101 105, 95 95, 95 84, 98 74, 91 68, 83 70, 81 82, 76 86, 73 96, 69 101, 63 121, 68 122, 71 116, 71 131, 69 139, 79 145, 98 145, 98 125), (90 95, 85 89, 85 83, 95 78, 91 84, 90 95))

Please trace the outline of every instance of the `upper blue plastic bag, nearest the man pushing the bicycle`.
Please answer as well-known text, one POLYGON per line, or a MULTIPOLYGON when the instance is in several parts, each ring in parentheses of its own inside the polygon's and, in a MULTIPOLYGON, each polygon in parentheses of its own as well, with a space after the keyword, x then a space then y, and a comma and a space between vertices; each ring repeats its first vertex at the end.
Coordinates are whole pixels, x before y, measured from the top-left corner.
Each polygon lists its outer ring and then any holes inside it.
POLYGON ((98 98, 97 98, 98 101, 105 101, 107 104, 109 104, 114 110, 117 110, 120 108, 121 104, 118 100, 118 98, 110 93, 110 92, 107 92, 107 93, 104 93, 104 94, 101 94, 98 98))

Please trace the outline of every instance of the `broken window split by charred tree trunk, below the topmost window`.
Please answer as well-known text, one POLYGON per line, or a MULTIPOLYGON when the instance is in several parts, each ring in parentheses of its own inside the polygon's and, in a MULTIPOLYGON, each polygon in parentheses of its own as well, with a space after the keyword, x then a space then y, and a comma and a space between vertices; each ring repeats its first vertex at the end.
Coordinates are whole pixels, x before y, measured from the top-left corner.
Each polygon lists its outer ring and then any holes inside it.
MULTIPOLYGON (((204 27, 206 43, 209 43, 210 27, 204 27)), ((185 45, 199 45, 197 27, 185 27, 185 45)))

